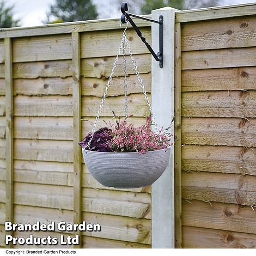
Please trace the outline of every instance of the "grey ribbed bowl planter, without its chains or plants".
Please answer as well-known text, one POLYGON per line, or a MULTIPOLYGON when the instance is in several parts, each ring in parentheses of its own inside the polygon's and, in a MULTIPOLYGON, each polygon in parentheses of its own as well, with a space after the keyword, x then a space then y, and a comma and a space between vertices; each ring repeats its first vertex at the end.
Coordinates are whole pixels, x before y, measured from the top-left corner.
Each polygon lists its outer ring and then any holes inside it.
POLYGON ((89 172, 103 186, 136 188, 153 184, 164 172, 170 148, 146 154, 106 153, 82 149, 89 172))

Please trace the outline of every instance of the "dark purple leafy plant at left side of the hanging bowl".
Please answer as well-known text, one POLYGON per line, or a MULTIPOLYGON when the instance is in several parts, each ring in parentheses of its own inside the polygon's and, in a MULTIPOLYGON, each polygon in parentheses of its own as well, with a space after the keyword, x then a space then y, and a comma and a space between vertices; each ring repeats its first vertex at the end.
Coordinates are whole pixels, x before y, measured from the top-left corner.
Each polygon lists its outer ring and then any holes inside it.
MULTIPOLYGON (((90 143, 90 149, 92 151, 99 151, 99 152, 112 152, 112 150, 109 148, 108 141, 111 141, 112 137, 109 135, 109 132, 111 130, 107 127, 101 128, 100 130, 97 130, 93 134, 93 140, 90 143)), ((91 138, 92 133, 88 133, 88 135, 80 142, 78 143, 82 148, 86 148, 88 145, 88 142, 91 138)), ((89 148, 87 148, 89 150, 89 148)))

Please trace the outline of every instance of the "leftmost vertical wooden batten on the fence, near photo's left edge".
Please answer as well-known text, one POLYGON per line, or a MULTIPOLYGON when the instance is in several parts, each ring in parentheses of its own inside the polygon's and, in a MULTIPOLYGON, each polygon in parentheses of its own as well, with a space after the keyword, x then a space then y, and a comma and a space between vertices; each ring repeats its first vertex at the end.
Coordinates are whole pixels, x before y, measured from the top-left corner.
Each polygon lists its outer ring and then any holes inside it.
MULTIPOLYGON (((4 67, 5 67, 5 108, 6 108, 6 178, 5 178, 5 221, 13 222, 13 166, 14 166, 14 147, 13 147, 13 51, 11 39, 4 39, 4 67)), ((5 233, 6 235, 13 235, 12 231, 5 233)), ((6 247, 11 248, 9 243, 6 247)))

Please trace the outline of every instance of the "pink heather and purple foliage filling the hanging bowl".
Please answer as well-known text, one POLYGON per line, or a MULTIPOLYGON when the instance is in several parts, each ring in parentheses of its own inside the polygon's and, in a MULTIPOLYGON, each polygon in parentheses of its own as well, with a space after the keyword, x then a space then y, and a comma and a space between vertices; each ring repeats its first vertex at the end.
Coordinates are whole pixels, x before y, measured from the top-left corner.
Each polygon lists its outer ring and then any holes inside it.
MULTIPOLYGON (((127 124, 127 118, 120 121, 115 117, 115 123, 106 123, 108 127, 101 128, 93 135, 90 149, 100 152, 138 152, 145 154, 147 151, 167 148, 171 145, 172 135, 168 129, 161 129, 159 133, 151 130, 151 117, 148 117, 144 125, 135 127, 127 124)), ((91 137, 91 133, 80 142, 86 148, 91 137)))

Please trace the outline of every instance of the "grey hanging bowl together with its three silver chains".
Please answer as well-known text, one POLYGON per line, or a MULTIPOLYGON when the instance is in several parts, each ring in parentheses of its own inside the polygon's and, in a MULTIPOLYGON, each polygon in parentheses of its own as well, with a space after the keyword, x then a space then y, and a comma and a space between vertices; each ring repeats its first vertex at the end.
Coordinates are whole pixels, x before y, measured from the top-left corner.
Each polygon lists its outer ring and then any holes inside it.
POLYGON ((90 143, 92 142, 92 139, 93 139, 97 121, 100 118, 102 107, 106 100, 108 88, 110 86, 110 82, 114 74, 114 69, 117 66, 118 56, 122 49, 123 49, 124 93, 125 93, 124 109, 125 109, 125 117, 128 116, 126 59, 125 59, 126 46, 129 50, 133 68, 136 71, 139 84, 142 88, 142 92, 144 94, 145 100, 149 107, 149 111, 151 113, 151 118, 152 118, 152 124, 155 126, 155 129, 158 131, 158 134, 160 132, 160 129, 156 124, 147 93, 145 92, 144 84, 142 83, 142 79, 139 75, 135 58, 132 55, 129 42, 126 38, 127 27, 128 27, 128 23, 124 30, 123 39, 121 40, 121 45, 119 47, 117 57, 115 58, 113 69, 111 71, 111 75, 109 76, 105 93, 103 94, 102 101, 101 101, 99 110, 97 112, 97 117, 93 125, 90 140, 86 148, 82 149, 84 162, 86 163, 86 166, 89 172, 93 175, 93 177, 97 181, 99 181, 103 186, 115 187, 115 188, 136 188, 136 187, 144 187, 144 186, 153 184, 153 182, 159 179, 159 177, 162 175, 162 173, 166 169, 169 158, 170 158, 170 148, 168 145, 166 145, 166 148, 164 149, 148 151, 145 154, 139 154, 138 152, 106 153, 106 152, 92 151, 90 149, 90 143))

